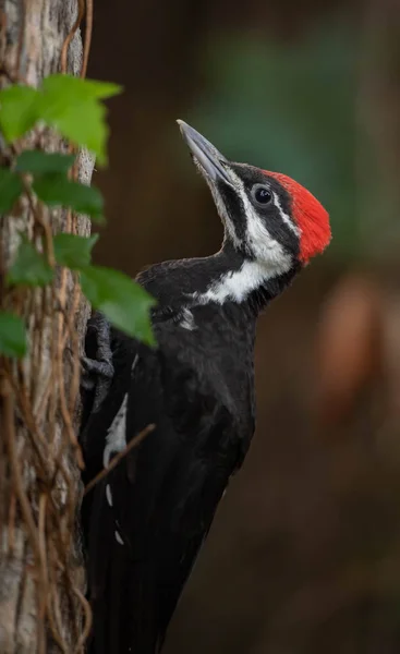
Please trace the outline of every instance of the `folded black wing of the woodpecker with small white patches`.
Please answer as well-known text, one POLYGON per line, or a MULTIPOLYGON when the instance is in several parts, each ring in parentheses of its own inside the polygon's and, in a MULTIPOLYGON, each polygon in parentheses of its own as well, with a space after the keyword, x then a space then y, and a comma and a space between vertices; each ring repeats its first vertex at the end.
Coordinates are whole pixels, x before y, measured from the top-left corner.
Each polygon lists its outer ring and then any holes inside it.
MULTIPOLYGON (((107 429, 118 441, 121 425, 128 439, 150 423, 156 428, 85 500, 90 651, 154 654, 249 443, 223 393, 173 349, 122 339, 114 352, 114 388, 90 417, 86 444, 104 443, 107 429)), ((88 457, 94 473, 100 452, 86 451, 96 452, 88 457)))

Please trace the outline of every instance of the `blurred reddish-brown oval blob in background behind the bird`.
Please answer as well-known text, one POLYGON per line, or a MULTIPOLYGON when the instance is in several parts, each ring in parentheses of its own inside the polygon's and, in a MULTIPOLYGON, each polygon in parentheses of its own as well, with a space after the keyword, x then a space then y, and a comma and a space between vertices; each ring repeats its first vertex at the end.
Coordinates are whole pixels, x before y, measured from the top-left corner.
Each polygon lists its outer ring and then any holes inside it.
POLYGON ((379 375, 381 323, 379 287, 361 275, 342 277, 320 308, 316 332, 316 409, 323 424, 349 417, 379 375))

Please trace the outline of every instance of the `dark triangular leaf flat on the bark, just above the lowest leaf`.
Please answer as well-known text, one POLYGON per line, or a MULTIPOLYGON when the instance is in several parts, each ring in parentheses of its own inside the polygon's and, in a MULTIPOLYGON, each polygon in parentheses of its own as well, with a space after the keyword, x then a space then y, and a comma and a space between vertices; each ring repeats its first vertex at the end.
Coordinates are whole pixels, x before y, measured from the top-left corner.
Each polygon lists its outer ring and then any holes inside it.
POLYGON ((50 283, 53 270, 31 241, 24 239, 19 247, 7 281, 10 284, 46 286, 50 283))

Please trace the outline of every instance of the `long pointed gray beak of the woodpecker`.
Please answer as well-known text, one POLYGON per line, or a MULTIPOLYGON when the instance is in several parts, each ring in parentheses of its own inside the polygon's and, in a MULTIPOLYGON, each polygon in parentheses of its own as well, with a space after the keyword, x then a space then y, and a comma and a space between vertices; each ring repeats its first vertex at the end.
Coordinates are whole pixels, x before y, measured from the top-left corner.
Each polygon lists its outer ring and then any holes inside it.
POLYGON ((215 182, 222 181, 233 186, 229 178, 229 169, 223 166, 223 164, 228 164, 223 155, 183 120, 177 120, 177 123, 192 155, 197 159, 206 174, 215 182))

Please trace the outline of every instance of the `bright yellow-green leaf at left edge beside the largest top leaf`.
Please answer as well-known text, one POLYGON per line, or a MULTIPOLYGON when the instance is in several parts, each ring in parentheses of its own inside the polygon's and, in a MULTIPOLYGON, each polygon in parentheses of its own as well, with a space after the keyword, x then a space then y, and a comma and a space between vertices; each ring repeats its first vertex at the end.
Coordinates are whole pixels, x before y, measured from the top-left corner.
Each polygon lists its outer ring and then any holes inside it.
POLYGON ((0 90, 0 130, 9 143, 32 130, 37 121, 40 93, 31 86, 9 86, 0 90))

